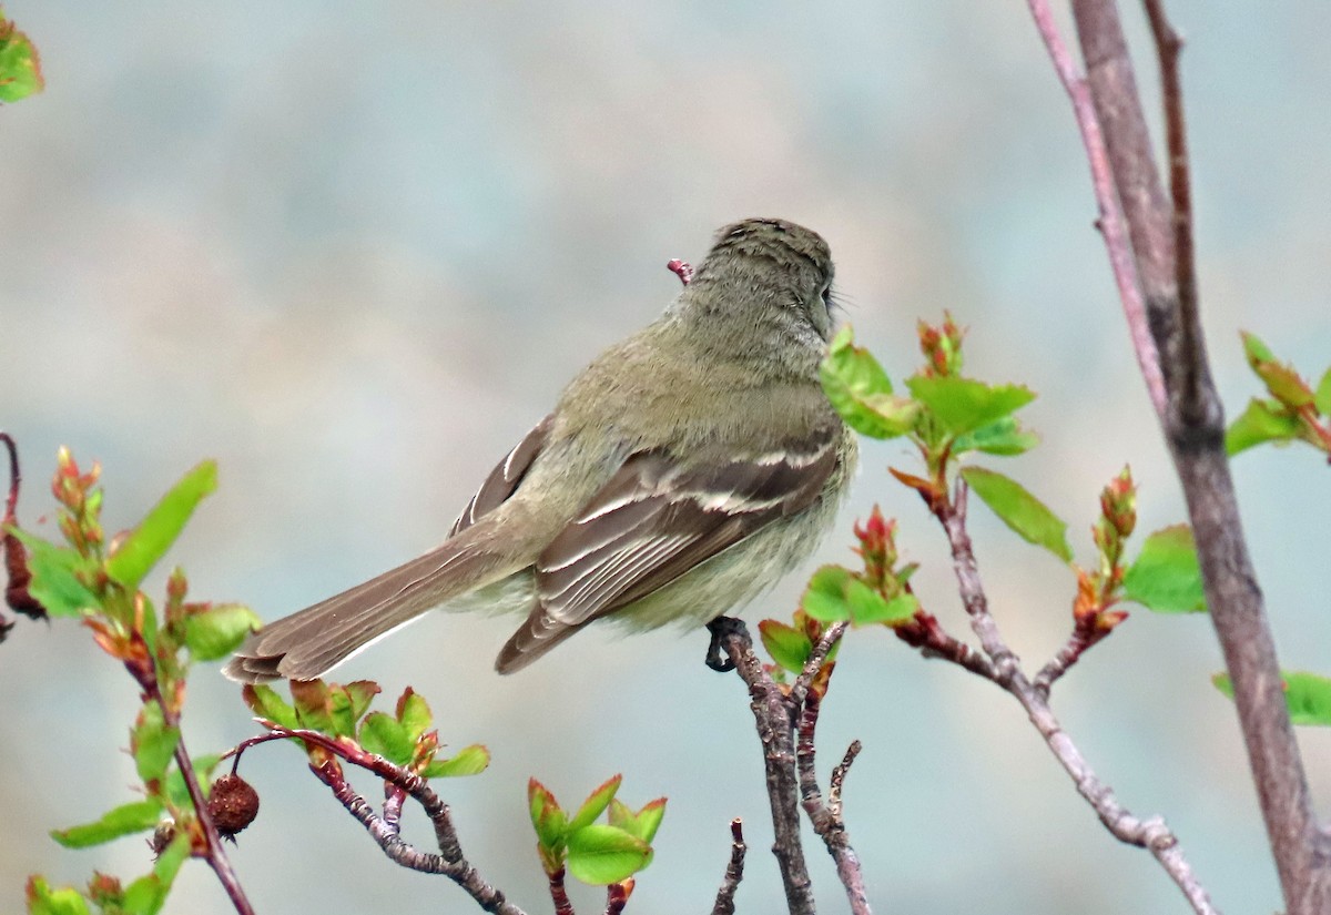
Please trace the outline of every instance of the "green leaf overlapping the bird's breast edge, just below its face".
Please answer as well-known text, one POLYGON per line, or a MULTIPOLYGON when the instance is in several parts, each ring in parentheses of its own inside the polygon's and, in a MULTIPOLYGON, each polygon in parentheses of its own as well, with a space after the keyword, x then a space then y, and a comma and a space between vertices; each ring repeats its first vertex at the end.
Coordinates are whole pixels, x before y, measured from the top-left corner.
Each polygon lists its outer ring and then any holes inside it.
POLYGON ((873 439, 892 439, 914 428, 918 407, 892 395, 892 382, 873 355, 843 327, 819 368, 828 402, 847 424, 873 439))

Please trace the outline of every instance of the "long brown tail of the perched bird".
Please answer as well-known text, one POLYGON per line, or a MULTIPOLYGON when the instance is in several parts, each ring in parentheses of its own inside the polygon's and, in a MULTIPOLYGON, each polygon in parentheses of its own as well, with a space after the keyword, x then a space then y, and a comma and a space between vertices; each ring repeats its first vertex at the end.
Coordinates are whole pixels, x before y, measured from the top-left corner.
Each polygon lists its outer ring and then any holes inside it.
POLYGON ((222 673, 242 684, 322 677, 394 629, 522 565, 486 549, 480 525, 470 528, 410 563, 268 624, 222 673))

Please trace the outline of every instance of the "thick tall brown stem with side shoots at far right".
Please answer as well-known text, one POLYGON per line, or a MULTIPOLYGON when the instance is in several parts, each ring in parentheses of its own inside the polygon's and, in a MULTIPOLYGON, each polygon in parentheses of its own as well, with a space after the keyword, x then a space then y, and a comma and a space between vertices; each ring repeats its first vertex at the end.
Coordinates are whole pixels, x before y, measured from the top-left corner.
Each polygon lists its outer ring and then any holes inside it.
MULTIPOLYGON (((1029 0, 1045 44, 1065 85, 1075 81, 1070 56, 1049 19, 1045 0, 1029 0), (1070 80, 1071 74, 1071 80, 1070 80)), ((1147 384, 1165 380, 1165 408, 1157 412, 1183 485, 1206 588, 1206 602, 1234 682, 1239 726, 1258 789, 1267 837, 1291 915, 1331 911, 1331 838, 1318 826, 1286 708, 1275 642, 1256 575, 1243 539, 1234 483, 1225 454, 1225 420, 1211 380, 1202 338, 1193 255, 1191 192, 1186 129, 1178 72, 1181 43, 1159 0, 1146 0, 1159 56, 1170 154, 1173 206, 1161 186, 1142 113, 1127 44, 1113 0, 1073 0, 1077 35, 1086 61, 1094 110, 1073 96, 1086 140, 1095 197, 1103 210, 1106 189, 1117 189, 1127 223, 1141 291, 1159 367, 1142 359, 1147 384), (1098 137, 1091 142, 1090 137, 1098 137), (1106 185, 1107 161, 1111 184, 1106 185)), ((1083 89, 1085 90, 1085 89, 1083 89)), ((1071 93, 1071 89, 1069 89, 1071 93)), ((1106 235, 1106 241, 1109 237, 1106 235)), ((1110 246, 1115 263, 1122 253, 1110 246)), ((1131 318, 1130 318, 1131 322, 1131 318)))

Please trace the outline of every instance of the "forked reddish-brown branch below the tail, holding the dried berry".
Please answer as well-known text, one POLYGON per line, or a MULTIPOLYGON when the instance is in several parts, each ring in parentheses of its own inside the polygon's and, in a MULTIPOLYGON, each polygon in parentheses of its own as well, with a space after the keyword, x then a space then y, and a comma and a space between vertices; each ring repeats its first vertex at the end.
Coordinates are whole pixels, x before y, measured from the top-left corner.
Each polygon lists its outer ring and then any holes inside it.
POLYGON ((342 769, 335 761, 329 759, 323 765, 310 765, 310 771, 331 789, 333 797, 365 826, 370 838, 375 841, 390 860, 410 870, 447 876, 487 912, 495 912, 496 915, 526 915, 520 908, 508 902, 503 892, 486 883, 476 868, 462 855, 462 845, 458 841, 458 831, 453 826, 453 815, 449 811, 449 805, 434 793, 429 782, 411 770, 397 766, 383 757, 365 753, 358 747, 349 747, 319 731, 293 727, 272 727, 266 734, 241 741, 222 758, 233 758, 232 771, 234 773, 240 767, 241 757, 250 747, 270 741, 282 741, 289 737, 294 737, 306 746, 318 746, 353 766, 378 775, 421 805, 434 825, 435 842, 439 846, 439 854, 437 855, 421 851, 415 846, 403 842, 398 835, 398 818, 394 814, 401 813, 401 801, 394 803, 395 793, 387 794, 385 798, 386 815, 379 817, 374 813, 374 807, 355 793, 342 775, 342 769), (397 811, 394 811, 394 806, 398 807, 397 811))

